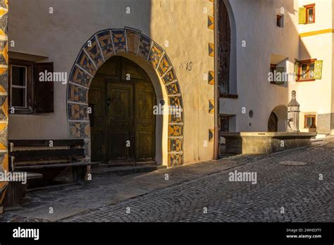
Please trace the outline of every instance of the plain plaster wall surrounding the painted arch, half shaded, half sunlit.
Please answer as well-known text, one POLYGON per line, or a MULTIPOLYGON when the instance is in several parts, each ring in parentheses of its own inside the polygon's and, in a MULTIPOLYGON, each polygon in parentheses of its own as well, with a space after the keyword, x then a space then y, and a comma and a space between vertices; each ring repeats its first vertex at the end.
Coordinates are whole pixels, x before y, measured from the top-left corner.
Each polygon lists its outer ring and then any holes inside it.
MULTIPOLYGON (((163 46, 175 68, 183 94, 185 128, 184 161, 208 160, 213 155, 209 128, 209 99, 214 87, 203 74, 214 69, 208 55, 208 42, 214 32, 207 28, 213 4, 207 0, 11 0, 9 40, 16 46, 10 51, 49 57, 54 70, 70 73, 75 58, 89 37, 99 30, 123 28, 141 30, 163 46), (49 13, 49 8, 54 13, 49 13), (126 14, 125 8, 131 13, 126 14), (209 12, 204 13, 204 8, 209 12), (192 62, 192 70, 186 63, 192 62)), ((55 84, 54 113, 49 115, 11 115, 10 139, 68 138, 66 85, 55 84)))

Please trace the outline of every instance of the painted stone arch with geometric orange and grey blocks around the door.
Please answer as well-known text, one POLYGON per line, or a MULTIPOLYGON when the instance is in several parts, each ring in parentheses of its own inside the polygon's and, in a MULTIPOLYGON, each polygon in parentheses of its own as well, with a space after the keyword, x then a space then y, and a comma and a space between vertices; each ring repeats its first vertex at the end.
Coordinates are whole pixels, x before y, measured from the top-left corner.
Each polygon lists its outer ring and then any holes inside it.
MULTIPOLYGON (((75 60, 67 89, 68 134, 70 139, 85 139, 87 161, 90 158, 88 92, 97 70, 111 56, 131 53, 147 61, 160 77, 168 95, 168 106, 183 108, 180 85, 173 65, 159 44, 134 29, 107 29, 95 33, 82 46, 75 60)), ((168 115, 168 166, 183 163, 183 111, 168 115)))

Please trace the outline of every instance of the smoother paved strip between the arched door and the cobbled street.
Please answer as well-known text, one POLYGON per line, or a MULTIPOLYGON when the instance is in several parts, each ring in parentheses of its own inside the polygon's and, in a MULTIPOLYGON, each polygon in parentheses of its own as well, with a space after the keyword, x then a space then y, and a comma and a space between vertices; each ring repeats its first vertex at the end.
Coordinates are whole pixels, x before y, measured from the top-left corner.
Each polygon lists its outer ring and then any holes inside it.
POLYGON ((54 222, 142 196, 156 189, 235 168, 247 161, 246 158, 242 161, 223 159, 140 173, 137 170, 124 172, 123 168, 120 171, 115 167, 95 168, 92 170, 92 181, 84 185, 71 184, 27 192, 22 206, 5 209, 5 213, 0 215, 0 222, 54 222), (50 208, 53 213, 50 213, 50 208))

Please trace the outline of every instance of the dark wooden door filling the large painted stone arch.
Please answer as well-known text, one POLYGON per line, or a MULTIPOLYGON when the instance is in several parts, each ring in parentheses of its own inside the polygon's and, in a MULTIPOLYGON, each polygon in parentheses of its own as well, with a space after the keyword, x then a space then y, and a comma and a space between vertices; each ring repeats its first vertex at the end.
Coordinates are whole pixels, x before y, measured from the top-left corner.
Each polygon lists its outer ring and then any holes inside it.
POLYGON ((92 161, 154 161, 156 94, 139 65, 110 58, 95 74, 88 102, 92 161))

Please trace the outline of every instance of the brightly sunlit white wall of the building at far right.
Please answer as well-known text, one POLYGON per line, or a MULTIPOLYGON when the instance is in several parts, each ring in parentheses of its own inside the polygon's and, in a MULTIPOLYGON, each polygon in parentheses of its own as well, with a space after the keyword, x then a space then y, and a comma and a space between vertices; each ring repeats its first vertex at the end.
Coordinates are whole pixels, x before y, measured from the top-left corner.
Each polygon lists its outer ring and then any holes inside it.
MULTIPOLYGON (((333 28, 332 0, 300 0, 299 6, 316 4, 316 22, 299 25, 299 32, 316 32, 333 28)), ((300 104, 299 128, 304 129, 305 114, 333 113, 333 33, 316 34, 301 37, 299 44, 299 60, 316 58, 323 61, 322 79, 314 82, 295 82, 290 86, 297 91, 300 104)), ((316 120, 317 121, 317 120, 316 120)))

